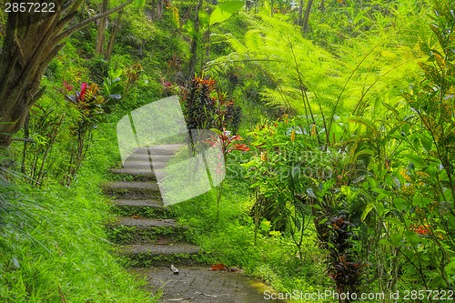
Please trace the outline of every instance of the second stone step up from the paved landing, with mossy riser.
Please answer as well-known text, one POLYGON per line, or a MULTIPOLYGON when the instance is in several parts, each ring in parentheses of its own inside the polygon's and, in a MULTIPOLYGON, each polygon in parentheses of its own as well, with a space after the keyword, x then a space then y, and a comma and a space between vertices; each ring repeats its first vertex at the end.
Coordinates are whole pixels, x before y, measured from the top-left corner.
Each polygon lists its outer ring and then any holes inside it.
POLYGON ((169 244, 184 240, 187 232, 174 219, 119 217, 106 227, 117 244, 169 244))

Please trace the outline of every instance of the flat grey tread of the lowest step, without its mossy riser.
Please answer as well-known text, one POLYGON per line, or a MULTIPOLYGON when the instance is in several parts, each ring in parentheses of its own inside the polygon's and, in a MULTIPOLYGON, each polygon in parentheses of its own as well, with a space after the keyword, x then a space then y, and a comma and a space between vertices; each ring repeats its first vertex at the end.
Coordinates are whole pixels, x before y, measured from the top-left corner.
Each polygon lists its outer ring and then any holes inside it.
POLYGON ((176 254, 197 255, 199 253, 199 247, 189 243, 174 243, 168 245, 130 244, 120 247, 120 252, 125 255, 137 254, 150 254, 154 256, 176 254))

